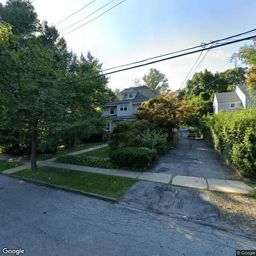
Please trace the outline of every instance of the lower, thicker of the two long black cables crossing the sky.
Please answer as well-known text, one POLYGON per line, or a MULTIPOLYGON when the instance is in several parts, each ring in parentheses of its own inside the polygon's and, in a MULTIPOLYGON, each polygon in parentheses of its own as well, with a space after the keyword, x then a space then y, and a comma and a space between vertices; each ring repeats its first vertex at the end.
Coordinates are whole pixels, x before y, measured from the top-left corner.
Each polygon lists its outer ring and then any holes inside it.
POLYGON ((250 37, 247 37, 247 38, 238 39, 238 40, 235 40, 233 42, 226 42, 226 43, 219 44, 219 45, 213 45, 213 46, 210 46, 208 48, 204 48, 204 49, 200 49, 200 50, 196 50, 196 51, 192 51, 192 52, 186 52, 186 53, 183 53, 183 54, 178 54, 178 55, 175 55, 175 56, 164 58, 162 60, 155 60, 155 61, 152 61, 152 62, 148 62, 148 63, 145 63, 145 64, 140 64, 140 65, 133 66, 133 67, 130 67, 130 68, 123 68, 121 70, 116 70, 116 71, 108 72, 108 73, 105 73, 105 74, 100 74, 98 76, 93 76, 93 77, 90 77, 90 78, 84 78, 84 79, 81 79, 81 80, 76 80, 76 81, 73 81, 73 82, 68 82, 66 84, 73 84, 73 83, 76 83, 76 82, 82 82, 82 81, 98 78, 98 77, 101 77, 101 76, 106 76, 106 75, 109 75, 109 74, 113 74, 113 73, 116 73, 116 72, 121 72, 121 71, 124 71, 124 70, 129 70, 129 69, 133 69, 133 68, 139 68, 139 67, 142 67, 142 66, 146 66, 146 65, 157 63, 157 62, 161 62, 161 61, 164 61, 164 60, 170 60, 170 59, 178 58, 178 57, 185 56, 185 55, 188 55, 188 54, 193 54, 193 53, 196 53, 196 52, 202 52, 202 51, 205 51, 205 50, 210 50, 210 49, 213 49, 213 48, 218 48, 218 47, 225 46, 225 45, 228 45, 228 44, 234 44, 236 42, 241 42, 241 41, 244 41, 244 40, 249 40, 251 38, 256 38, 256 35, 250 36, 250 37))

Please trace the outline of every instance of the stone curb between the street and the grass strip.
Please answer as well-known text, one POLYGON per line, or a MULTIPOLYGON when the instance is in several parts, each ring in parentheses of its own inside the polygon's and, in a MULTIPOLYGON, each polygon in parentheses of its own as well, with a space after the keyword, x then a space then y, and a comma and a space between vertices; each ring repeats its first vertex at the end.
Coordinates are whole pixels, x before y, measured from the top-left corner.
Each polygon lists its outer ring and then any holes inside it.
POLYGON ((2 174, 4 176, 11 177, 11 178, 15 178, 15 179, 18 179, 18 180, 24 180, 26 182, 30 182, 30 183, 33 183, 33 184, 36 184, 36 185, 41 185, 41 186, 45 186, 45 187, 48 187, 48 188, 54 188, 54 189, 58 189, 58 190, 64 190, 66 192, 72 192, 72 193, 80 194, 80 195, 83 195, 83 196, 89 196, 89 197, 104 200, 104 201, 107 201, 107 202, 118 202, 118 199, 113 198, 113 197, 102 196, 102 195, 99 195, 99 194, 94 194, 94 193, 90 193, 90 192, 86 192, 86 191, 82 191, 82 190, 76 190, 76 189, 73 189, 73 188, 66 188, 66 187, 62 187, 62 186, 58 186, 58 185, 54 185, 54 184, 49 184, 47 182, 43 182, 43 181, 40 181, 40 180, 31 180, 31 179, 28 179, 28 178, 22 178, 22 177, 15 176, 15 175, 8 174, 8 173, 4 173, 4 172, 1 172, 0 174, 2 174))

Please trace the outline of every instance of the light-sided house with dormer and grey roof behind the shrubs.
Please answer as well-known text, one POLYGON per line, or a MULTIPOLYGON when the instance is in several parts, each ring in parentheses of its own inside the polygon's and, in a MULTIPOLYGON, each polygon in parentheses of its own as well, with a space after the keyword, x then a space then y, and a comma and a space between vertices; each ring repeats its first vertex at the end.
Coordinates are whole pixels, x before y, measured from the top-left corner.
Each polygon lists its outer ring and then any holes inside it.
POLYGON ((157 96, 160 96, 158 90, 151 90, 146 85, 127 88, 116 94, 115 100, 108 102, 102 113, 103 116, 110 115, 111 122, 107 131, 112 132, 113 123, 116 121, 134 120, 134 112, 142 102, 157 96))

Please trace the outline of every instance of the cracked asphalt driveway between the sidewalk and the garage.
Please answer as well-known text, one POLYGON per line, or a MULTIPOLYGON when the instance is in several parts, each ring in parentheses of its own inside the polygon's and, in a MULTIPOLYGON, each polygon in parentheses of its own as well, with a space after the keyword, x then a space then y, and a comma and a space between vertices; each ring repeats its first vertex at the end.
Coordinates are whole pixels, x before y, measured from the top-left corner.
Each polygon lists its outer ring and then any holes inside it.
POLYGON ((230 168, 203 139, 179 138, 160 156, 148 172, 188 175, 202 178, 230 179, 230 168))

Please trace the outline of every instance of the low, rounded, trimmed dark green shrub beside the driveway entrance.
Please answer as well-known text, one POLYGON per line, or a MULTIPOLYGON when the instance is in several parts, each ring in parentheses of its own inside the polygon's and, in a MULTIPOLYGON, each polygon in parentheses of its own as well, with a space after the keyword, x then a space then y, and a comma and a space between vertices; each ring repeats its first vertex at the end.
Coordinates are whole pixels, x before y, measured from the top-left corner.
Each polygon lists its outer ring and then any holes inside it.
POLYGON ((156 159, 157 151, 149 148, 118 148, 110 153, 110 159, 120 167, 146 168, 156 159))

